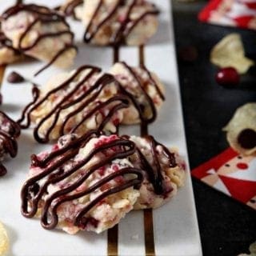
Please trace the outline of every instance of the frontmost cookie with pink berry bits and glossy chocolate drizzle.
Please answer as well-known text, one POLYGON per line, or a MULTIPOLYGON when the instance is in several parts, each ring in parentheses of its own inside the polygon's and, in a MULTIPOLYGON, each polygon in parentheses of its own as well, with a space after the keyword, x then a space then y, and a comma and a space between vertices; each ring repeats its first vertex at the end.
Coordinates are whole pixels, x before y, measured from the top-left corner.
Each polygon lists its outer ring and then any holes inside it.
POLYGON ((22 214, 69 234, 111 228, 139 196, 142 174, 127 159, 134 152, 134 143, 117 135, 65 135, 51 152, 32 156, 22 214))

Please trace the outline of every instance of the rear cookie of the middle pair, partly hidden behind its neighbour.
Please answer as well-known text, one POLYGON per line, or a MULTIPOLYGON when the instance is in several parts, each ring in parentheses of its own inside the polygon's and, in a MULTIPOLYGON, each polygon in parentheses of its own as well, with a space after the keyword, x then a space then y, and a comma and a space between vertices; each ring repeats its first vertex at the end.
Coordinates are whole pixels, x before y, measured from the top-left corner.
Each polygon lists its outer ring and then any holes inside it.
MULTIPOLYGON (((122 124, 151 123, 164 101, 164 86, 146 67, 131 67, 118 62, 109 71, 130 95, 130 107, 123 110, 122 124)), ((129 96, 128 95, 128 96, 129 96)))

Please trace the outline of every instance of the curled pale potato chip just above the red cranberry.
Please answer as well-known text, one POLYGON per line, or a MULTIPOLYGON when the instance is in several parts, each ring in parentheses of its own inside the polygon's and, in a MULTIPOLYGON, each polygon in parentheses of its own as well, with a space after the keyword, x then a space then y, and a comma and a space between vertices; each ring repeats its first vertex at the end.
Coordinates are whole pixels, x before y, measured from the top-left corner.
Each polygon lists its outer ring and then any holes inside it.
POLYGON ((234 67, 239 74, 245 74, 254 62, 246 58, 239 34, 233 33, 222 38, 210 52, 210 62, 219 67, 234 67))

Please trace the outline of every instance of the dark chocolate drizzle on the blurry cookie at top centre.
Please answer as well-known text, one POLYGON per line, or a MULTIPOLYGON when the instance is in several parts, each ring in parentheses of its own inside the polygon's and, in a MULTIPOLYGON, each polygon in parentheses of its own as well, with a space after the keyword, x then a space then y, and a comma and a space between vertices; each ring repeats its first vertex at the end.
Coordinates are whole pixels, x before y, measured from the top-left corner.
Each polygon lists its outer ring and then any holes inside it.
MULTIPOLYGON (((126 38, 128 38, 132 30, 134 30, 134 27, 137 26, 138 23, 143 20, 143 18, 146 18, 146 16, 148 15, 159 14, 159 11, 156 9, 156 7, 152 5, 152 7, 154 7, 154 10, 146 11, 136 19, 130 19, 130 14, 132 13, 132 10, 136 6, 136 2, 137 0, 131 1, 130 5, 127 8, 123 21, 120 22, 118 30, 116 30, 114 34, 111 35, 109 45, 117 46, 124 44, 126 42, 126 38)), ((93 40, 98 31, 102 29, 102 26, 106 25, 107 22, 111 22, 111 19, 114 18, 114 15, 118 14, 118 9, 124 6, 124 3, 122 0, 119 0, 112 8, 112 10, 110 10, 109 14, 106 15, 106 18, 104 18, 101 22, 94 26, 94 20, 98 16, 103 5, 103 0, 100 0, 98 2, 98 6, 95 8, 94 14, 90 19, 88 26, 86 27, 86 32, 84 34, 84 42, 86 43, 89 43, 91 40, 93 40)))

